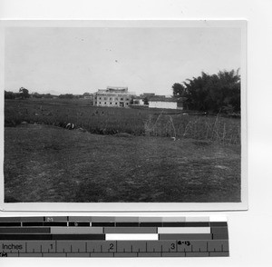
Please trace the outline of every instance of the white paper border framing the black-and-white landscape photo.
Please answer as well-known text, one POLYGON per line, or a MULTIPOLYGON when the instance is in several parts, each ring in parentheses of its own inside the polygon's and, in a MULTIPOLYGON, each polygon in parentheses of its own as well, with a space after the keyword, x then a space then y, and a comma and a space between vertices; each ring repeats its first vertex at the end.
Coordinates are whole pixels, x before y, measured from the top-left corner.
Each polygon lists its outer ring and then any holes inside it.
POLYGON ((204 212, 248 210, 247 21, 220 20, 2 20, 0 84, 5 88, 6 27, 239 27, 241 29, 241 202, 240 203, 4 203, 4 89, 1 94, 0 210, 8 212, 204 212))

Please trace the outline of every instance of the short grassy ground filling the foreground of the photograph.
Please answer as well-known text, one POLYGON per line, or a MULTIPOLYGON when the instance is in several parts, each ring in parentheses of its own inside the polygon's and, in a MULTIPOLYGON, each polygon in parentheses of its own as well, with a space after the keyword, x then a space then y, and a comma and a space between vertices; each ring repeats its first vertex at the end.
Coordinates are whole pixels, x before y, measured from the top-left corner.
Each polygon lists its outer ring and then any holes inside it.
POLYGON ((239 202, 238 145, 5 127, 5 202, 239 202))

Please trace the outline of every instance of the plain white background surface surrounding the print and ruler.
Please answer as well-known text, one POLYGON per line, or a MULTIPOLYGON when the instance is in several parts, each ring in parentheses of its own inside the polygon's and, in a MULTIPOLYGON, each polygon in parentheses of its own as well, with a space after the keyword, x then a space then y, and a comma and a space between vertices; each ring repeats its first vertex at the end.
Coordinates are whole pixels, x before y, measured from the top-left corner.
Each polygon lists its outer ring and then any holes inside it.
MULTIPOLYGON (((0 265, 272 266, 271 11, 272 1, 270 0, 0 0, 1 19, 247 19, 249 193, 249 209, 247 212, 222 213, 228 216, 229 258, 2 258, 0 259, 0 265)), ((9 213, 8 215, 12 216, 15 213, 9 213)))

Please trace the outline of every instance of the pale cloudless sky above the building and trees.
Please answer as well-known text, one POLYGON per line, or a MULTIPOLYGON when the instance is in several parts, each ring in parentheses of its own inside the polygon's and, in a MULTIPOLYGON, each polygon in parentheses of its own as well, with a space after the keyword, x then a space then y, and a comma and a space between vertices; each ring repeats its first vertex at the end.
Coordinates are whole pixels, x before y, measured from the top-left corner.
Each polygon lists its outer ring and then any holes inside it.
POLYGON ((5 90, 94 93, 126 86, 172 94, 201 72, 237 70, 241 32, 230 27, 10 27, 5 30, 5 90))

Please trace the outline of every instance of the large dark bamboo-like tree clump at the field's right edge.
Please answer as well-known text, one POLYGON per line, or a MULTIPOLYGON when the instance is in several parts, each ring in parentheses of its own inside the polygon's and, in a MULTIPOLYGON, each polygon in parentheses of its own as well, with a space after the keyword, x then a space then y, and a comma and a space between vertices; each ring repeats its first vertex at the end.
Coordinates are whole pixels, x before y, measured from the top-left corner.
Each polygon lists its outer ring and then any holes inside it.
POLYGON ((220 71, 187 79, 172 85, 173 97, 183 103, 185 109, 212 113, 240 112, 239 70, 220 71))

